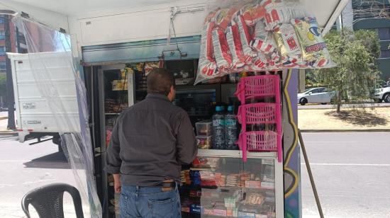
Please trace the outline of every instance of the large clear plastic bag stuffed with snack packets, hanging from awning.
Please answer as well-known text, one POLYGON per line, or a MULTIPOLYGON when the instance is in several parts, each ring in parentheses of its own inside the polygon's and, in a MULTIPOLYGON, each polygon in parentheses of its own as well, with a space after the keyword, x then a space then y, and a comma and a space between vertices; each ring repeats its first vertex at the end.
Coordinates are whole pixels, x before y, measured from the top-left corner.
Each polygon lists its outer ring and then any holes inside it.
POLYGON ((240 71, 334 67, 302 0, 220 0, 201 30, 196 84, 240 71))

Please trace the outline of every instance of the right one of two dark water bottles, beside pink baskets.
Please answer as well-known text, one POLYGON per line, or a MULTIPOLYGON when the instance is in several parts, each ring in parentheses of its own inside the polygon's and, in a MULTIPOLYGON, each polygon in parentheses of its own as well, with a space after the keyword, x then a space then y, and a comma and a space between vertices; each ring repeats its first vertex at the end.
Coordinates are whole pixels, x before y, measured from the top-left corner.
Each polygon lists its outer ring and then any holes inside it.
POLYGON ((233 105, 228 106, 228 113, 225 115, 225 149, 237 149, 237 120, 233 113, 233 105))

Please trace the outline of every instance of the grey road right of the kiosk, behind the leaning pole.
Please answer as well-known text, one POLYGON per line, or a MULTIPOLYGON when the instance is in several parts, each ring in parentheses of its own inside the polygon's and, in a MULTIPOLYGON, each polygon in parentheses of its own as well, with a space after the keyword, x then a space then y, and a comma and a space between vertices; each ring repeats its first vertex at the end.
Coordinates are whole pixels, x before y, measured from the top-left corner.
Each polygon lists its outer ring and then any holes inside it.
MULTIPOLYGON (((325 217, 390 217, 389 136, 389 132, 303 134, 325 217)), ((301 172, 303 217, 319 217, 303 164, 301 172)))

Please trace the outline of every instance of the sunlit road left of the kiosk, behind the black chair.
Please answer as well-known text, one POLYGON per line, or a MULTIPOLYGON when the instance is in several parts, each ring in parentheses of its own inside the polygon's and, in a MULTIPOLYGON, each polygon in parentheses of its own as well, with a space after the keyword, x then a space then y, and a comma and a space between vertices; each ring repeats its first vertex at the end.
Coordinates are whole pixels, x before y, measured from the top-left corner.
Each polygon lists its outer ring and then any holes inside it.
MULTIPOLYGON (((65 156, 57 152, 55 144, 48 141, 29 145, 17 140, 17 137, 0 136, 1 218, 25 217, 21 200, 34 188, 50 183, 76 185, 65 156)), ((65 194, 64 204, 65 217, 75 217, 70 195, 65 194)))

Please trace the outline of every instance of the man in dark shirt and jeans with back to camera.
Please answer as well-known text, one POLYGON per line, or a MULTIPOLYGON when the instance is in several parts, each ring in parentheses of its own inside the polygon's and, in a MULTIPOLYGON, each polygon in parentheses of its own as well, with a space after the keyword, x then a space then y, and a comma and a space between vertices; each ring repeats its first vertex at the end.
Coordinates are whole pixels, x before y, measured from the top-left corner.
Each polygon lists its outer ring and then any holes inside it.
POLYGON ((121 217, 181 217, 181 164, 191 164, 197 148, 189 116, 172 104, 174 96, 173 74, 153 69, 145 100, 116 120, 106 172, 121 193, 121 217))

